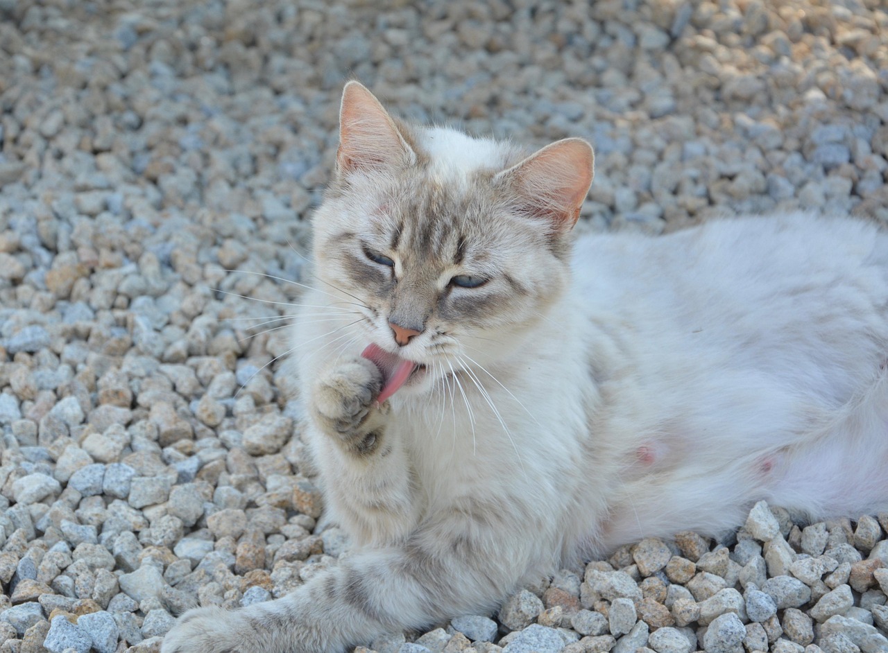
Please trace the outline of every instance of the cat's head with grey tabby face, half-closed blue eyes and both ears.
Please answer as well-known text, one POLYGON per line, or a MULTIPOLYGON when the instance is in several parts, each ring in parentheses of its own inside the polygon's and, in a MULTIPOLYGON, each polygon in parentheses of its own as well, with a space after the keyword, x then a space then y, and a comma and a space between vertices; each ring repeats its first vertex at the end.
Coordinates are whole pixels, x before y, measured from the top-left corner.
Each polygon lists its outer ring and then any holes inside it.
MULTIPOLYGON (((336 174, 314 217, 316 273, 361 304, 353 328, 366 343, 425 366, 415 376, 486 366, 558 319, 548 313, 567 284, 592 166, 579 138, 527 155, 403 124, 348 83, 336 174)), ((552 324, 545 337, 557 337, 552 324)))

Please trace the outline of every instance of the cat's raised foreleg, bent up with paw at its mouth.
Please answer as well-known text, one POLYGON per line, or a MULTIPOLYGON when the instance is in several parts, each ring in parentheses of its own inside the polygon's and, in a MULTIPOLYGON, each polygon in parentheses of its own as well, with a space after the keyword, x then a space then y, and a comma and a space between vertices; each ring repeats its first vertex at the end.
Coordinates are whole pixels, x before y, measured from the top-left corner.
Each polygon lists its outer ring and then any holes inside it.
POLYGON ((402 540, 422 506, 389 405, 377 404, 382 374, 365 358, 337 362, 311 389, 313 444, 326 500, 360 543, 402 540))

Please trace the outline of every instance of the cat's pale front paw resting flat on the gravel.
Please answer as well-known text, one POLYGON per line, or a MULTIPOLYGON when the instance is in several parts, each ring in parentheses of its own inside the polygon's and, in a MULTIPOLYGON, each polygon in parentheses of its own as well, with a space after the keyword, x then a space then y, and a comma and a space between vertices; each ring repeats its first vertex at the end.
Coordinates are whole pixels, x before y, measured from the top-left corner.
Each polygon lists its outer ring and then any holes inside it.
POLYGON ((263 653, 250 618, 241 610, 196 608, 173 625, 161 653, 263 653))

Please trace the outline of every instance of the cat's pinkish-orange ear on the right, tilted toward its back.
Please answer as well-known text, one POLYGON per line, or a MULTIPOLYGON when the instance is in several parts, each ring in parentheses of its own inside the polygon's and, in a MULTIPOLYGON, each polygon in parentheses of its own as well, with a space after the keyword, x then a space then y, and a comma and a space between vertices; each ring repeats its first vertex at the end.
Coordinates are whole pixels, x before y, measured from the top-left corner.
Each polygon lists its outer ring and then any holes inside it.
POLYGON ((543 147, 496 177, 509 180, 527 211, 570 229, 594 177, 595 155, 583 138, 565 138, 543 147))

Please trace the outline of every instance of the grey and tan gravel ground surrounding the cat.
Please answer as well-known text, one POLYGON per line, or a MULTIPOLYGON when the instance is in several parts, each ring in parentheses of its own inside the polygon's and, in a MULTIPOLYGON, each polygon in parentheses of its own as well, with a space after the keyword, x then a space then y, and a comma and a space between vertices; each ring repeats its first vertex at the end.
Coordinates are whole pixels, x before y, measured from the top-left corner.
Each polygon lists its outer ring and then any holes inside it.
MULTIPOLYGON (((194 597, 265 601, 347 546, 275 357, 351 75, 423 122, 589 138, 583 228, 888 221, 881 0, 391 5, 0 0, 0 653, 155 651, 194 597)), ((886 650, 884 531, 759 505, 368 643, 886 650)))

